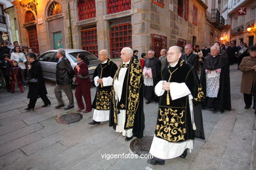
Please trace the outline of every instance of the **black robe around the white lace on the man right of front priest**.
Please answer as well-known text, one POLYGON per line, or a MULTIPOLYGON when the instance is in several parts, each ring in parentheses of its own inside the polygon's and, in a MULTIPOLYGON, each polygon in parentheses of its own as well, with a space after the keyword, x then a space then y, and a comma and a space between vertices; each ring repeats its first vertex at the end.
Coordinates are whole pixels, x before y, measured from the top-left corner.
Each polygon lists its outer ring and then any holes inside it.
POLYGON ((224 110, 231 110, 230 100, 230 76, 229 76, 229 63, 226 56, 219 54, 213 58, 209 54, 203 61, 202 72, 200 76, 203 92, 205 93, 205 100, 202 107, 213 108, 224 112, 224 110), (216 70, 221 68, 221 75, 219 80, 219 92, 217 97, 206 97, 206 73, 207 70, 216 70))

